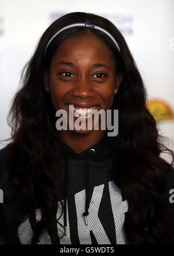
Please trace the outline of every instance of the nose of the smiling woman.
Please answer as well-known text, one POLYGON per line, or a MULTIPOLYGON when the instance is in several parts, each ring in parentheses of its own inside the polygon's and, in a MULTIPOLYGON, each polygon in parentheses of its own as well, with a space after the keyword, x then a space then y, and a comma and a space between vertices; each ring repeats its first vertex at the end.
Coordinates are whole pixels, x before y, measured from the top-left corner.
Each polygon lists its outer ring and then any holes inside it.
POLYGON ((72 93, 74 97, 79 97, 80 99, 88 99, 89 97, 93 97, 94 91, 90 83, 86 81, 79 81, 73 88, 72 93))

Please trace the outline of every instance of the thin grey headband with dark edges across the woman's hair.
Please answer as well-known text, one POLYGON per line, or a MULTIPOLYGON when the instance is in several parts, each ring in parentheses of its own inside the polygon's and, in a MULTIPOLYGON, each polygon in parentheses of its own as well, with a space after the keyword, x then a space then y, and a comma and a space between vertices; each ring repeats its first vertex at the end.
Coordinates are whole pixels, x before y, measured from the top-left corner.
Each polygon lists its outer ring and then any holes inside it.
POLYGON ((90 24, 90 23, 74 23, 71 25, 68 25, 66 27, 63 27, 62 29, 60 29, 59 31, 56 32, 56 34, 54 34, 50 40, 48 41, 48 44, 46 45, 45 51, 44 51, 44 58, 45 58, 45 54, 46 54, 46 50, 49 46, 49 44, 51 43, 51 41, 57 36, 57 34, 59 34, 61 31, 66 30, 66 29, 70 29, 71 27, 87 27, 88 29, 97 29, 99 31, 102 31, 104 34, 107 34, 108 37, 111 38, 111 40, 113 40, 114 44, 117 46, 118 51, 120 52, 119 46, 117 41, 115 40, 115 38, 105 29, 102 29, 102 27, 96 26, 94 24, 90 24))

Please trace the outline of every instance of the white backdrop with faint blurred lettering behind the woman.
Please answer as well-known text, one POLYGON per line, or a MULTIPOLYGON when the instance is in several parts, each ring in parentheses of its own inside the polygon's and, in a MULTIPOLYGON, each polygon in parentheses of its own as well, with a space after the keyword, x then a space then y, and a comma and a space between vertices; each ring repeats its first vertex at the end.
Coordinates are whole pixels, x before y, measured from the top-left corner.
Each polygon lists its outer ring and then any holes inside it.
MULTIPOLYGON (((143 76, 148 98, 165 100, 174 110, 173 0, 0 0, 0 140, 9 138, 6 116, 21 69, 39 37, 59 16, 76 11, 107 17, 121 30, 143 76)), ((174 121, 158 125, 161 134, 174 141, 174 121)), ((174 145, 170 147, 174 149, 174 145)))

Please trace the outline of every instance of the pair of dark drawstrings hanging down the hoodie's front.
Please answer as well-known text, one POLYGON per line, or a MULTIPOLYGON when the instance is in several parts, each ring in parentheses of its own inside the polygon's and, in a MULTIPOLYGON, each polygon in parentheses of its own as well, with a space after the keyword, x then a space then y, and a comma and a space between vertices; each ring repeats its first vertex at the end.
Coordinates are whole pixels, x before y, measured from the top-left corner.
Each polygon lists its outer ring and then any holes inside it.
MULTIPOLYGON (((85 212, 83 213, 85 217, 85 224, 88 225, 87 221, 87 215, 89 215, 88 209, 89 209, 89 159, 91 155, 95 154, 95 149, 89 149, 88 151, 88 157, 85 162, 85 212)), ((64 154, 64 160, 65 160, 65 175, 64 175, 64 229, 65 229, 65 236, 67 236, 67 158, 66 153, 64 154)))

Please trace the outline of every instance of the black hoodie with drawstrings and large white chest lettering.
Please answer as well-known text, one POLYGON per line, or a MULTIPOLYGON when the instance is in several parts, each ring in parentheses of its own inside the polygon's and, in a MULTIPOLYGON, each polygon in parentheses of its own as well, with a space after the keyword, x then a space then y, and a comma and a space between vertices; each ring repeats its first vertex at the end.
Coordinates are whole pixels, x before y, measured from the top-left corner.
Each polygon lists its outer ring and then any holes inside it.
MULTIPOLYGON (((63 141, 59 143, 66 160, 66 175, 57 198, 52 229, 42 233, 38 244, 126 244, 124 220, 128 201, 113 180, 111 142, 104 136, 82 153, 76 153, 63 141)), ((6 183, 6 151, 7 147, 0 150, 0 188, 4 194, 11 190, 6 183)), ((165 200, 169 204, 169 191, 174 189, 172 167, 167 179, 165 200)), ((0 244, 17 243, 10 230, 17 206, 17 201, 0 204, 0 244)), ((32 230, 39 219, 41 212, 37 209, 19 226, 21 244, 31 244, 32 230)))

